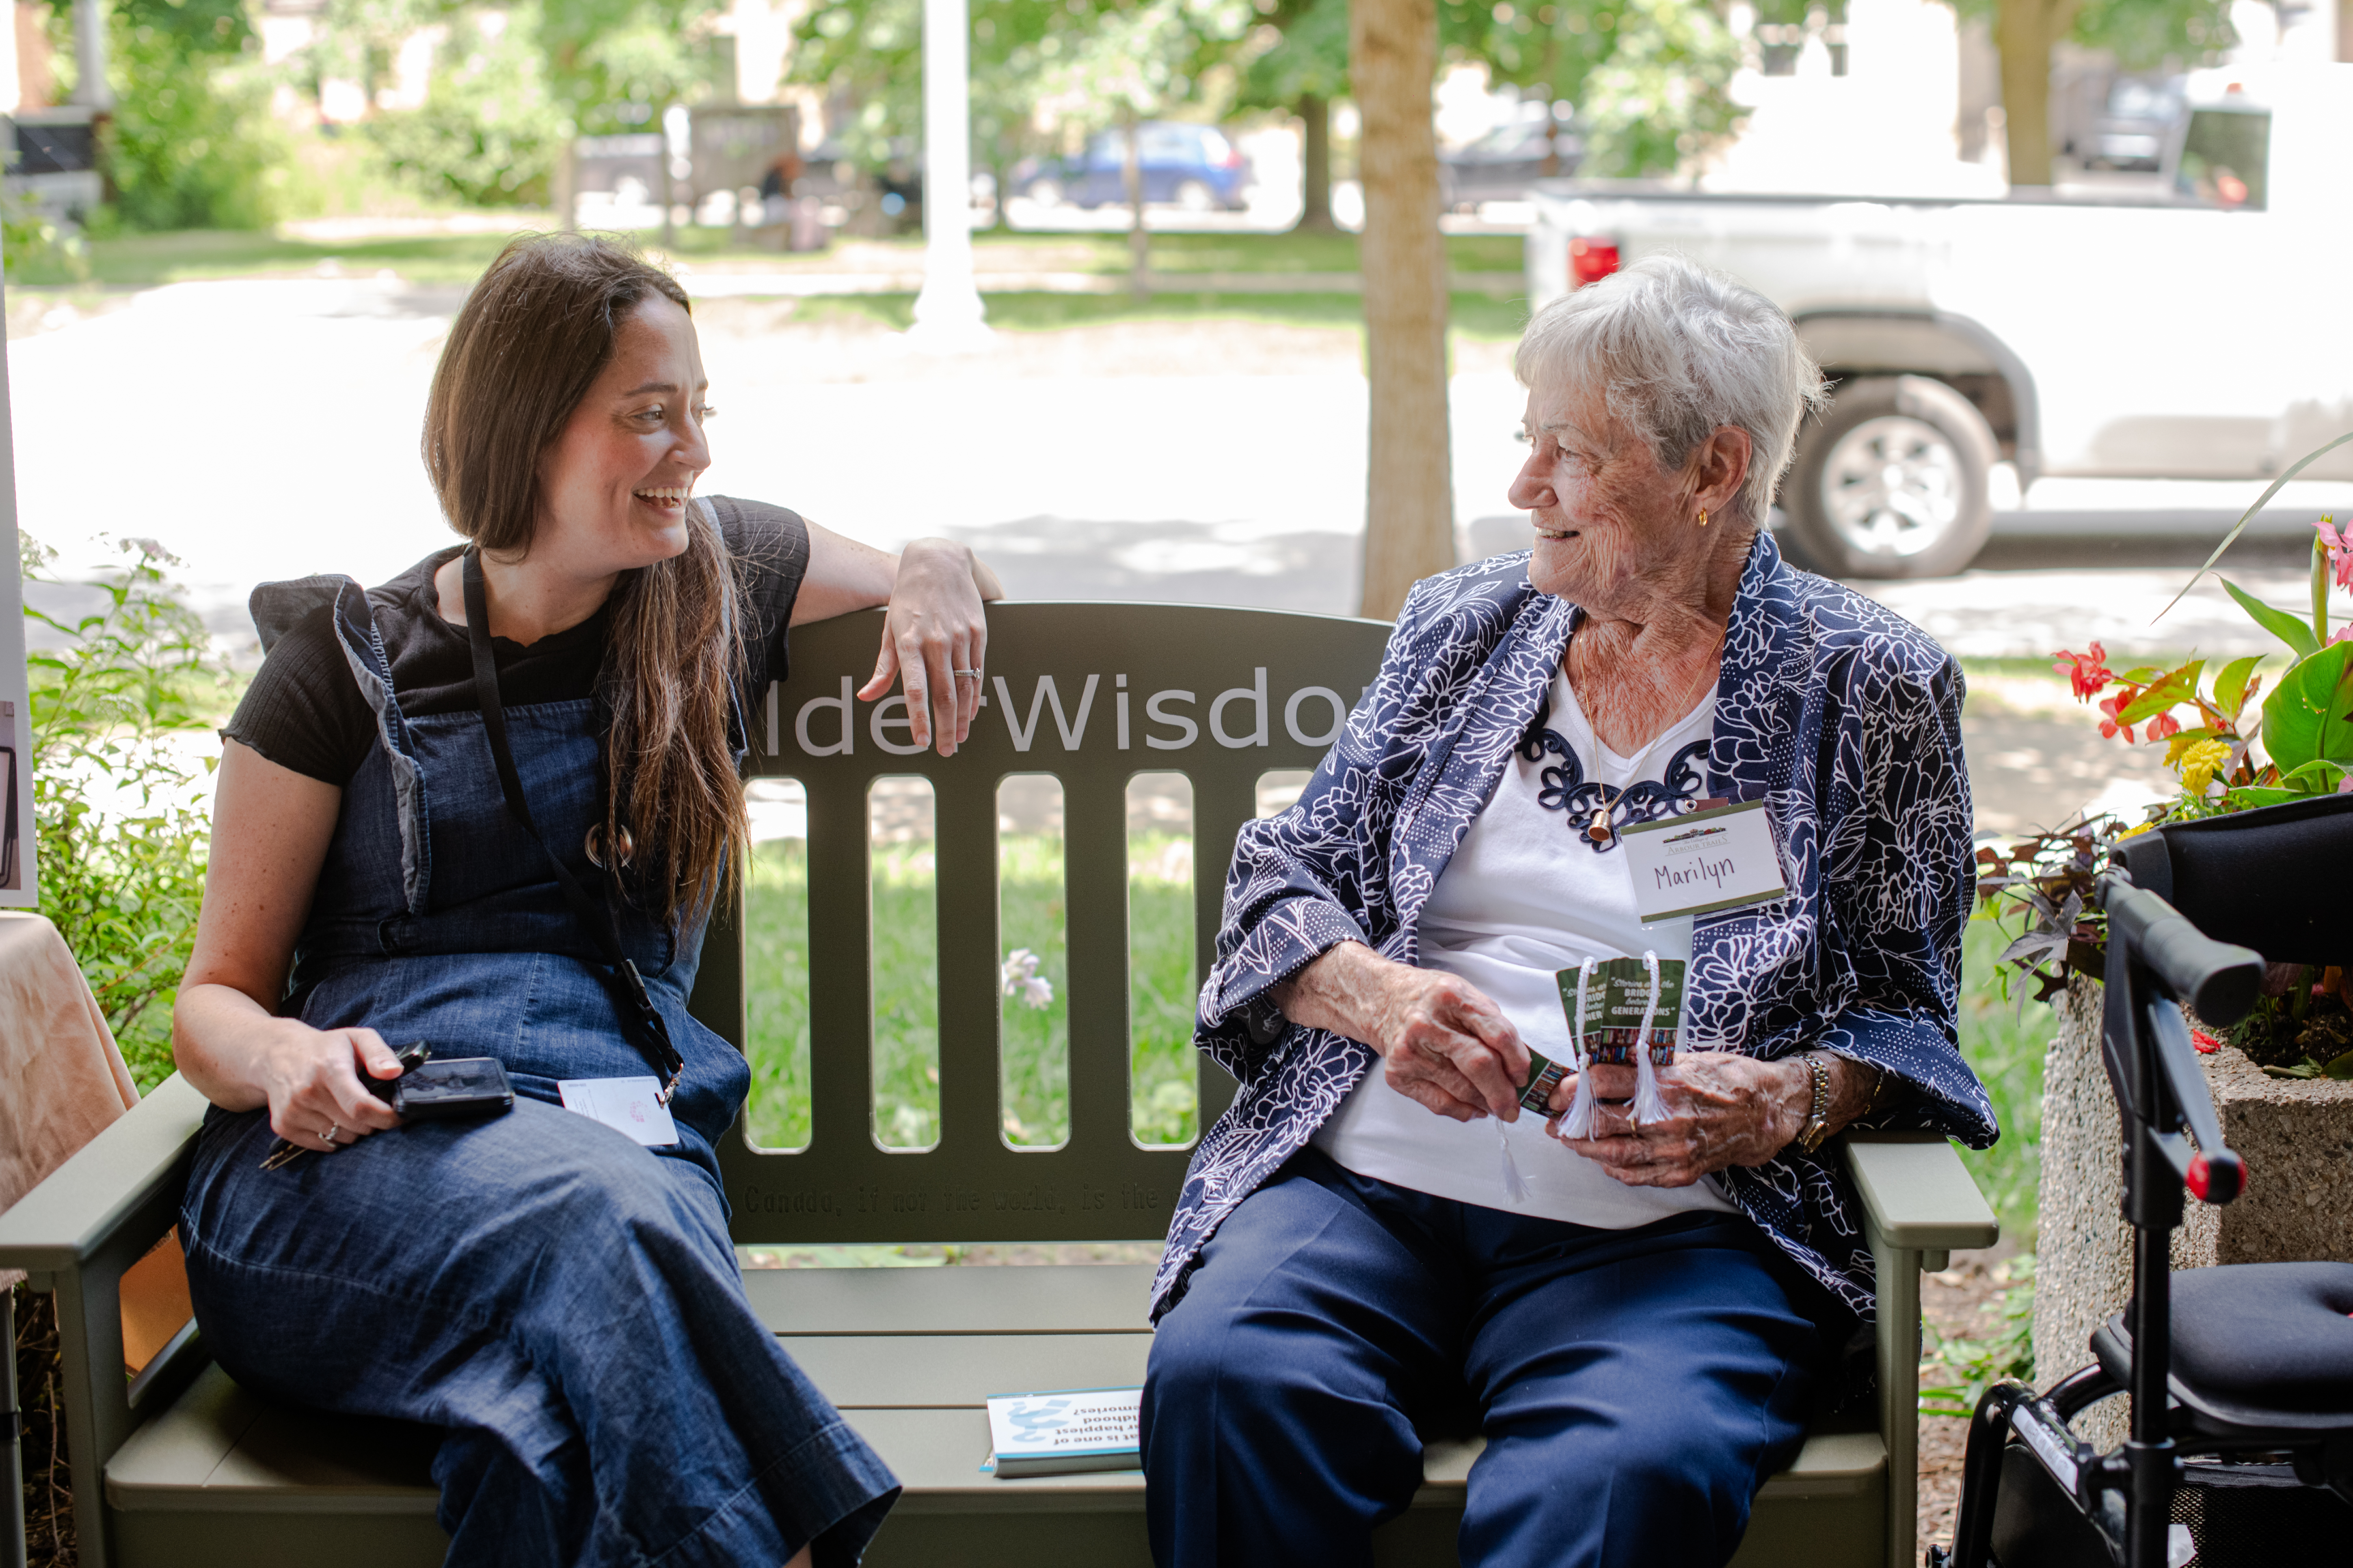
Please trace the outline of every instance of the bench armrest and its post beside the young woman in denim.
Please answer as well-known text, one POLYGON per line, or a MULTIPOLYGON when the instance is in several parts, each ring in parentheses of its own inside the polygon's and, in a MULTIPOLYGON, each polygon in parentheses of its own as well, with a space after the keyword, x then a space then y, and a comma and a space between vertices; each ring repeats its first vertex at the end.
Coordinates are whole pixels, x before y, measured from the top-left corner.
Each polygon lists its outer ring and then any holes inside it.
POLYGON ((205 1095, 172 1074, 47 1180, 0 1213, 0 1267, 56 1295, 59 1382, 85 1563, 113 1561, 106 1462, 146 1410, 202 1361, 193 1326, 134 1380, 122 1375, 122 1274, 179 1218, 205 1095))

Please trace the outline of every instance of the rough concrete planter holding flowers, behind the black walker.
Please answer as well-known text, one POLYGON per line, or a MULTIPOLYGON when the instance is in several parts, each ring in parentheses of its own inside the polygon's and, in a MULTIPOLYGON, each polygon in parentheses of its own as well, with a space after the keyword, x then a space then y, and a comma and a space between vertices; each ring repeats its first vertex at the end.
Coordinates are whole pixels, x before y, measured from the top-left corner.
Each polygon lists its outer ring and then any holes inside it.
MULTIPOLYGON (((2132 1227, 2122 1204, 2122 1138, 2099 1063, 2101 987, 2068 985, 2042 1058, 2042 1187, 2035 1241, 2035 1382, 2049 1387, 2092 1359, 2092 1331, 2132 1295, 2132 1227)), ((2235 1204, 2191 1204, 2174 1267, 2217 1262, 2353 1262, 2353 1084, 2275 1079, 2224 1046, 2202 1058, 2224 1138, 2247 1159, 2235 1204)), ((2085 1410, 2101 1448, 2125 1439, 2125 1401, 2085 1410)))

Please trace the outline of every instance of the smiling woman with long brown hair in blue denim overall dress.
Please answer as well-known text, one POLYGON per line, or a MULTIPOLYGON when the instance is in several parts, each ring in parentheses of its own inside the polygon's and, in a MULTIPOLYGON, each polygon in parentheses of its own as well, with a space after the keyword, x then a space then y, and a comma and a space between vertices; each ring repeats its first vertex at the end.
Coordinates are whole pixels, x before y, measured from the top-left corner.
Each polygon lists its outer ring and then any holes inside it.
POLYGON ((452 1563, 854 1563, 896 1497, 744 1298, 713 1150, 751 1074, 687 994, 786 628, 887 604, 861 696, 904 679, 951 755, 1000 590, 694 496, 706 386, 666 273, 518 240, 426 411, 466 543, 254 592, 174 1011, 214 1103, 188 1281, 242 1385, 445 1429, 452 1563), (388 1041, 496 1058, 513 1110, 395 1117, 388 1041))

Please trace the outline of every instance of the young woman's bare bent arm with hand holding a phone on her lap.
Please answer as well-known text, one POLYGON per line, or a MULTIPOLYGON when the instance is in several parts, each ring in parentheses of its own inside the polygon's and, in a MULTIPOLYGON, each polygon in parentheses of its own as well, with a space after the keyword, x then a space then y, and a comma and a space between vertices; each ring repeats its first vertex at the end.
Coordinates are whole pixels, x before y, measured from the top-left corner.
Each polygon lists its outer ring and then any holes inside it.
POLYGON ((344 792, 228 741, 212 809, 212 863, 195 952, 172 1009, 179 1070, 221 1110, 271 1110, 271 1128, 306 1150, 395 1126, 358 1067, 400 1077, 374 1030, 313 1030, 278 1018, 294 938, 311 912, 344 792))

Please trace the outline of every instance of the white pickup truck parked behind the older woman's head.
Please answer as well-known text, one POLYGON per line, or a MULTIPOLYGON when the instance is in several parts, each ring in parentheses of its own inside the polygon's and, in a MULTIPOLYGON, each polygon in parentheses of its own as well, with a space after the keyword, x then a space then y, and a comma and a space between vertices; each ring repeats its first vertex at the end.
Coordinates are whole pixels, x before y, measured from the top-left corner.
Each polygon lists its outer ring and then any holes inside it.
MULTIPOLYGON (((1960 571, 1995 463, 2247 480, 2353 428, 2353 66, 2195 73, 2188 103, 2162 181, 2099 200, 1548 181, 1529 294, 1652 252, 1765 292, 1835 381, 1781 489, 1800 555, 1960 571)), ((2353 477, 2353 444, 2301 477, 2353 477)))

